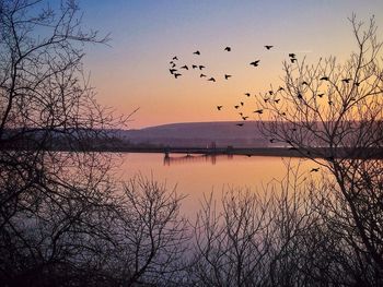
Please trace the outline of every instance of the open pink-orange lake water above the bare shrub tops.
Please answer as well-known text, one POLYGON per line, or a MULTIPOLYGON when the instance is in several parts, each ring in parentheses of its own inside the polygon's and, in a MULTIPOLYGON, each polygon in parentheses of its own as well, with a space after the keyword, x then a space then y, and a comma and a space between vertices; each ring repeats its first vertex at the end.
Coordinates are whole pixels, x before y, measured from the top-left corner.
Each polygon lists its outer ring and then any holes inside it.
MULTIPOLYGON (((120 166, 123 179, 129 179, 137 174, 153 177, 166 182, 169 189, 177 186, 177 192, 187 198, 183 201, 182 212, 194 217, 199 210, 204 194, 214 193, 218 198, 230 187, 262 190, 274 179, 280 180, 286 176, 288 158, 264 156, 202 156, 202 155, 171 155, 164 154, 123 154, 124 164, 120 166)), ((302 160, 291 158, 293 166, 302 160)), ((310 170, 316 165, 305 160, 301 170, 310 170)))

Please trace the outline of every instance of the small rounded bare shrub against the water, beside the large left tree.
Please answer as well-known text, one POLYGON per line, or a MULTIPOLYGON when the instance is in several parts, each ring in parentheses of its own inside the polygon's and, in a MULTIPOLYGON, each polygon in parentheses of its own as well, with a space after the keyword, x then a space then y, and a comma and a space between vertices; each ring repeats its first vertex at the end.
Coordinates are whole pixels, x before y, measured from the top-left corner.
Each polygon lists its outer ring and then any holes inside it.
POLYGON ((182 282, 189 235, 175 188, 139 175, 125 183, 114 230, 112 263, 125 286, 171 286, 182 282))

